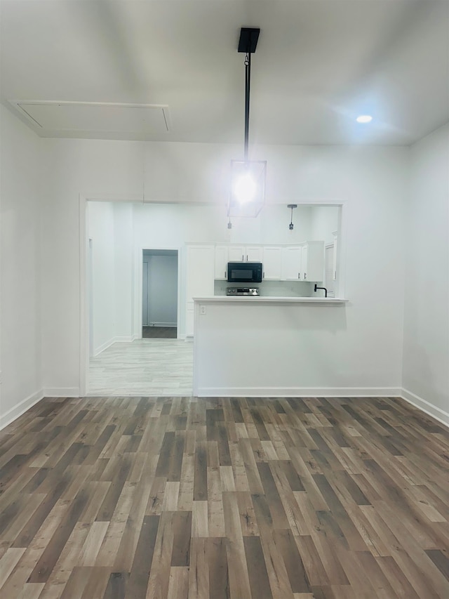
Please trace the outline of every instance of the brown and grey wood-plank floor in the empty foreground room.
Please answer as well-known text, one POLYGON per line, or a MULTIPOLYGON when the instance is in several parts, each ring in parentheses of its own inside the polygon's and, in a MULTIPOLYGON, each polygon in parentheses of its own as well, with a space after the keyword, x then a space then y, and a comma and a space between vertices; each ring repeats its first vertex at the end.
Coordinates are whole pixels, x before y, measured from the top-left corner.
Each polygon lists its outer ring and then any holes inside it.
POLYGON ((396 399, 46 399, 0 433, 5 599, 447 599, 448 431, 396 399))

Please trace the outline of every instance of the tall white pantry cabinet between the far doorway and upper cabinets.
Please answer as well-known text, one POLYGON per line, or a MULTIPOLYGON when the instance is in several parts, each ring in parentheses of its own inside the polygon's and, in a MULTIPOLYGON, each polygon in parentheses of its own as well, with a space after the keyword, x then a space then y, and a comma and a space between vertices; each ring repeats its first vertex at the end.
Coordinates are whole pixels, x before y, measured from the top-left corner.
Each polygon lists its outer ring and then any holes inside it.
POLYGON ((213 296, 215 270, 213 245, 187 246, 186 335, 194 334, 194 297, 213 296))

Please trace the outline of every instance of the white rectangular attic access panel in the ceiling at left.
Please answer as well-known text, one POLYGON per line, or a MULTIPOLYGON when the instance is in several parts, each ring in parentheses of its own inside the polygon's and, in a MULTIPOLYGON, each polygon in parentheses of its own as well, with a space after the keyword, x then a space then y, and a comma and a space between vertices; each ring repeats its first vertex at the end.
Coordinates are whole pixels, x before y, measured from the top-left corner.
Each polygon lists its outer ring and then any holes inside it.
POLYGON ((15 100, 11 102, 36 132, 90 131, 167 133, 168 106, 98 102, 15 100))

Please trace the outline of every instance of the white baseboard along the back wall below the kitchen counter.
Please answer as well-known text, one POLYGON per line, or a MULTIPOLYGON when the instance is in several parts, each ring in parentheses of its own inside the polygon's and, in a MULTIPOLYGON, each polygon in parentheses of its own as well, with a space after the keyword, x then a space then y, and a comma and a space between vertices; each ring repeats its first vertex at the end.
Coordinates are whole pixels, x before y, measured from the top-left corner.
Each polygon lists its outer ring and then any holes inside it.
POLYGON ((401 387, 203 387, 196 397, 400 397, 401 387))

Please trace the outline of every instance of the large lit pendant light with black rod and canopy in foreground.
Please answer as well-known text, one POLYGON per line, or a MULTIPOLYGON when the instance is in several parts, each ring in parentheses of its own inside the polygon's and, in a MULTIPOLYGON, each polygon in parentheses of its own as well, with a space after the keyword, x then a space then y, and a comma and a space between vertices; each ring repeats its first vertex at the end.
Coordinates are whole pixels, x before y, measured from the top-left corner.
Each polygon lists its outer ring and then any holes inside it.
POLYGON ((245 54, 245 144, 243 160, 231 161, 231 190, 227 216, 257 216, 265 201, 267 162, 250 160, 248 156, 250 128, 251 54, 255 53, 260 29, 242 27, 239 53, 245 54))

